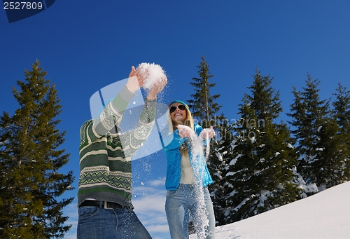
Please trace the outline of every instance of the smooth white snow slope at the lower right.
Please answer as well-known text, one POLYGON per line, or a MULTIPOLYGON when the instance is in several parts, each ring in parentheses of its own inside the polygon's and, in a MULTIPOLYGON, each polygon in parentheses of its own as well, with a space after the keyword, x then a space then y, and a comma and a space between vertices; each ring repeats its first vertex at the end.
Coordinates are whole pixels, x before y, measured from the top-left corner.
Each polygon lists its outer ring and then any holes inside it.
POLYGON ((216 228, 216 239, 234 238, 350 238, 350 182, 216 228))

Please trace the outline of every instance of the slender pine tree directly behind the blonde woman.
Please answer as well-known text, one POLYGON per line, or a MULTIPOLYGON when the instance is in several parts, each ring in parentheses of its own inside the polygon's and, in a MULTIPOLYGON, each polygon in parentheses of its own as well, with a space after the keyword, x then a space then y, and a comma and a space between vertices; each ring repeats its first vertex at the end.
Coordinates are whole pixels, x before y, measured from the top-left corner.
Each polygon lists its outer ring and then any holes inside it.
POLYGON ((221 212, 225 207, 225 192, 223 185, 223 177, 225 176, 225 159, 230 155, 230 142, 232 132, 230 132, 230 123, 223 116, 217 115, 221 109, 221 105, 215 102, 220 95, 211 95, 211 88, 214 88, 216 83, 209 83, 212 75, 209 72, 209 65, 202 56, 202 62, 197 66, 199 78, 194 77, 190 84, 195 88, 195 94, 191 95, 193 100, 188 100, 189 107, 192 111, 195 121, 203 128, 213 126, 217 137, 211 139, 210 153, 207 157, 207 165, 211 177, 214 181, 209 185, 211 199, 213 201, 214 212, 218 225, 223 224, 221 220, 221 212))

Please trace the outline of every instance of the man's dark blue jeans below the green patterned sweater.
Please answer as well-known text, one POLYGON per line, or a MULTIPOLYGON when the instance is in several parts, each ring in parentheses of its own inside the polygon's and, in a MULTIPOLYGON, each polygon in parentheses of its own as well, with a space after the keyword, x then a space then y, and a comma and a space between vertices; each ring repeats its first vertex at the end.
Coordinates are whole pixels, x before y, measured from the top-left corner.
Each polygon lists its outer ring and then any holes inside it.
POLYGON ((152 239, 132 209, 79 207, 77 239, 96 238, 152 239))

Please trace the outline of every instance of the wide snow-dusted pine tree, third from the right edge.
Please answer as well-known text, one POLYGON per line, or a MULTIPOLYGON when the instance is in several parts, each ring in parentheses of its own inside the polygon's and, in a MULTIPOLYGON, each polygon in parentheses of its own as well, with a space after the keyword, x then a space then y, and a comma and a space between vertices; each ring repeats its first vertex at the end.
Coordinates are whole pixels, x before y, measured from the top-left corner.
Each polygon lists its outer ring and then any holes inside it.
POLYGON ((239 104, 234 156, 226 175, 229 194, 225 222, 251 217, 298 199, 293 168, 297 163, 286 123, 274 123, 282 111, 272 79, 256 69, 251 95, 239 104))

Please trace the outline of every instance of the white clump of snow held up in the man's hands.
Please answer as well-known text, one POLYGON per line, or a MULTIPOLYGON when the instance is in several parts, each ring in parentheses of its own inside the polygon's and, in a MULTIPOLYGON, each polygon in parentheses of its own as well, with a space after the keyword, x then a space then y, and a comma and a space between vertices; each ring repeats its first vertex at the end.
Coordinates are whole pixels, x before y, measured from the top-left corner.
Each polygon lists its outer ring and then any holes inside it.
POLYGON ((141 69, 139 74, 148 75, 146 77, 146 82, 142 86, 147 90, 151 90, 155 83, 159 83, 165 78, 165 72, 159 64, 141 63, 137 69, 141 69))

